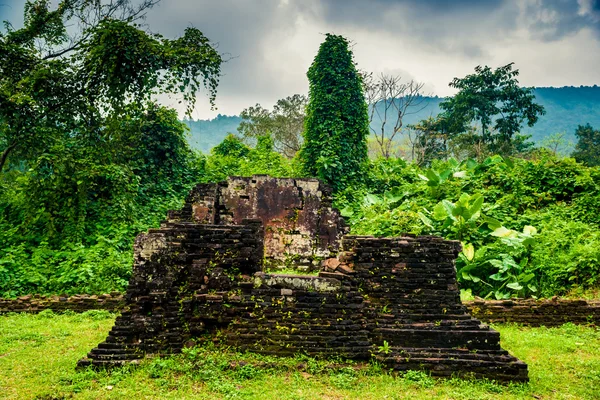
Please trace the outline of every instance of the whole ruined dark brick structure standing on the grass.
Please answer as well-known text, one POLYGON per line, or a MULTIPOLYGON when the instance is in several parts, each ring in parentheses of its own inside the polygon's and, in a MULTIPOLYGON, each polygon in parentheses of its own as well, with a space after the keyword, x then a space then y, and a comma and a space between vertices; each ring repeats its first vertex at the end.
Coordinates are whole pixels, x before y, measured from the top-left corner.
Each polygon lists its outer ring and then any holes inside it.
POLYGON ((499 333, 460 303, 459 243, 345 231, 316 180, 198 185, 182 210, 138 236, 126 306, 78 365, 176 353, 219 332, 221 343, 258 353, 376 357, 397 371, 528 379, 499 333), (263 261, 322 270, 267 273, 263 261))

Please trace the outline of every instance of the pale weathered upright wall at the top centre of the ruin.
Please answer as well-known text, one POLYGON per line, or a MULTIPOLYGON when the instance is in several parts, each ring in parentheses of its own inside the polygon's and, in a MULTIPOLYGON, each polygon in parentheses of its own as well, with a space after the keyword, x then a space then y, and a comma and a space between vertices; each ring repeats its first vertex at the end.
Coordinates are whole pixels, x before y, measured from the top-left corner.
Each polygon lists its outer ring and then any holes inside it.
POLYGON ((230 177, 197 185, 183 209, 170 212, 169 221, 239 225, 258 219, 267 265, 314 270, 337 253, 347 232, 331 203, 331 189, 316 179, 230 177))

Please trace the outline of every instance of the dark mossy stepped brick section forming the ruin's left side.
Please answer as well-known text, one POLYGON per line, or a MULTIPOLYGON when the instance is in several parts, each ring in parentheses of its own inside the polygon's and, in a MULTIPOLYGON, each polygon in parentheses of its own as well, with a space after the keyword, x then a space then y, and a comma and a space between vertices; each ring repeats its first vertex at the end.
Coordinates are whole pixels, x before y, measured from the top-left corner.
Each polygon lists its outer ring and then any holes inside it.
POLYGON ((204 332, 208 319, 187 313, 186 305, 217 290, 235 289, 235 277, 241 280, 260 265, 262 226, 244 222, 168 222, 138 236, 126 306, 106 340, 79 365, 115 365, 145 354, 176 353, 192 335, 204 332))

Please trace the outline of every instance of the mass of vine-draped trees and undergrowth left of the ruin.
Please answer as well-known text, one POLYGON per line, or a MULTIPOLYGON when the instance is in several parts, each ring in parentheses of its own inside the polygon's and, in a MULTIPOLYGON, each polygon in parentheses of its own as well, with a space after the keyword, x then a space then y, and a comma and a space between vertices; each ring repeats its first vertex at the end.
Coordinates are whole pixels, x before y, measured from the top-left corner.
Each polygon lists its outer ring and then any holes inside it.
POLYGON ((153 99, 214 102, 222 58, 198 29, 148 32, 157 2, 28 0, 0 27, 0 296, 123 289, 133 237, 198 179, 153 99))

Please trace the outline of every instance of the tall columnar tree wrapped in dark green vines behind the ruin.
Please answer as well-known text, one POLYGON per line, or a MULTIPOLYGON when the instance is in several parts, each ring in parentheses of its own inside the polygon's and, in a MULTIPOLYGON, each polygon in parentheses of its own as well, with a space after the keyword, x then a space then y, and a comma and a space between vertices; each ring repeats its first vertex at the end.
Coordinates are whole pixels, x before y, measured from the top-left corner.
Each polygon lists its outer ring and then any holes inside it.
POLYGON ((309 100, 300 159, 305 173, 340 190, 360 180, 369 115, 348 40, 327 34, 308 70, 309 100))

